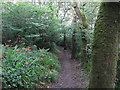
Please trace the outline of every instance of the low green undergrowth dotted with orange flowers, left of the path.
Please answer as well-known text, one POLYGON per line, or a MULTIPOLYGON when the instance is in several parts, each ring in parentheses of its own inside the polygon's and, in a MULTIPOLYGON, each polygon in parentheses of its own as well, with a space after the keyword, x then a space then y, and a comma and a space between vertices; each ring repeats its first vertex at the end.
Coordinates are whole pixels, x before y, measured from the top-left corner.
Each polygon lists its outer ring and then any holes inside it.
POLYGON ((60 69, 56 56, 45 49, 2 46, 3 88, 28 88, 44 85, 55 79, 60 69))

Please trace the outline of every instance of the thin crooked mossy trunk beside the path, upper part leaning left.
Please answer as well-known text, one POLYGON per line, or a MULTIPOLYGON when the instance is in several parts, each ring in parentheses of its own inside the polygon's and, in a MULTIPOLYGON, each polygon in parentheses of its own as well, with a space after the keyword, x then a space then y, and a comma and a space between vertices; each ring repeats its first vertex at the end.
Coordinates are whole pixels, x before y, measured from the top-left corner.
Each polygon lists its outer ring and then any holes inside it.
POLYGON ((75 11, 77 17, 79 18, 80 24, 83 26, 83 28, 81 28, 81 38, 80 38, 80 42, 81 42, 81 47, 80 47, 81 58, 80 59, 83 62, 85 62, 86 58, 87 58, 87 55, 86 55, 87 40, 85 37, 86 33, 84 32, 83 29, 88 28, 88 24, 87 24, 85 14, 83 12, 81 12, 81 10, 79 9, 76 2, 73 3, 73 7, 74 7, 74 11, 75 11))

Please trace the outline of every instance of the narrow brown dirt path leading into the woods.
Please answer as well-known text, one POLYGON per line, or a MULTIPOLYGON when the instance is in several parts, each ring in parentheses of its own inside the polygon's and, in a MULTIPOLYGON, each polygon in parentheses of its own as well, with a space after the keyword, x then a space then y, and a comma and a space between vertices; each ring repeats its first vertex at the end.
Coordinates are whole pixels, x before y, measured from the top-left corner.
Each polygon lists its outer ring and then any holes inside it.
POLYGON ((55 82, 51 84, 51 88, 85 88, 86 80, 82 77, 82 67, 78 62, 71 59, 70 52, 61 48, 58 54, 61 70, 55 82))

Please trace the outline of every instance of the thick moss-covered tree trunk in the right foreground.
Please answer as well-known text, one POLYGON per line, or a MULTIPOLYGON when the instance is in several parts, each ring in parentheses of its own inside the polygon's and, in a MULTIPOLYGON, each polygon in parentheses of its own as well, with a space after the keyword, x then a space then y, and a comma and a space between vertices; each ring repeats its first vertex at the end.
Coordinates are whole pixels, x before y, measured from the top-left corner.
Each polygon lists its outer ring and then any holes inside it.
POLYGON ((118 60, 119 3, 103 2, 95 24, 90 88, 114 88, 118 60))

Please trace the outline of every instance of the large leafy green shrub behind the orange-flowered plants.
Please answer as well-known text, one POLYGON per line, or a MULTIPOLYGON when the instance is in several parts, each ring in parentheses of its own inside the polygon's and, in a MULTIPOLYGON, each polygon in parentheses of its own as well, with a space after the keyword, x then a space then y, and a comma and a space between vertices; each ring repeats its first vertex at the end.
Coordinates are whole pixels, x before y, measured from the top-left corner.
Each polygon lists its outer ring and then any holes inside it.
POLYGON ((3 3, 3 43, 25 41, 38 48, 53 49, 57 39, 57 18, 51 3, 3 3))

